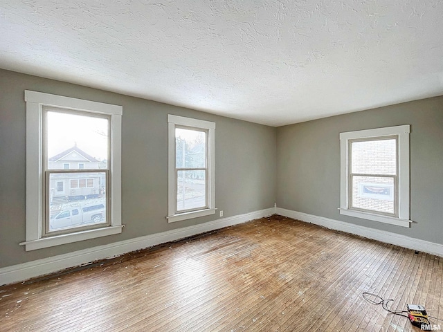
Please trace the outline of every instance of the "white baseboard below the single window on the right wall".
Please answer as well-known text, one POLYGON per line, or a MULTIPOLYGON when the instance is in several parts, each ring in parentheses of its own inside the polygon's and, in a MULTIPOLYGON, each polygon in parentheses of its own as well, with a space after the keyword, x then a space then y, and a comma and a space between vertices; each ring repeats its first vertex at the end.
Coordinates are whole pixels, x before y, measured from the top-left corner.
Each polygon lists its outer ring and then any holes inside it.
POLYGON ((443 257, 443 245, 440 243, 414 239, 413 237, 406 237, 405 235, 386 232, 384 230, 376 230, 374 228, 345 223, 343 221, 329 219, 323 216, 314 216, 312 214, 282 208, 276 208, 275 213, 280 214, 280 216, 288 216, 289 218, 306 221, 307 223, 314 223, 315 225, 320 225, 332 230, 341 230, 342 232, 359 235, 368 239, 374 239, 384 243, 394 244, 395 246, 401 246, 443 257))

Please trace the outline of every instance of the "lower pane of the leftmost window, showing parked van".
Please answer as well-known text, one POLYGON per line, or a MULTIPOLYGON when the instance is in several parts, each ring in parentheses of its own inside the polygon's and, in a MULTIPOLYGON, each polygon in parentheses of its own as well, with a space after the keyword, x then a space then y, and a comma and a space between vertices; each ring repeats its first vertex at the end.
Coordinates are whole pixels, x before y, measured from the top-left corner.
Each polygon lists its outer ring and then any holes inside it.
POLYGON ((105 178, 105 172, 49 174, 49 231, 106 223, 105 178), (93 181, 94 186, 67 189, 63 185, 77 181, 93 181))

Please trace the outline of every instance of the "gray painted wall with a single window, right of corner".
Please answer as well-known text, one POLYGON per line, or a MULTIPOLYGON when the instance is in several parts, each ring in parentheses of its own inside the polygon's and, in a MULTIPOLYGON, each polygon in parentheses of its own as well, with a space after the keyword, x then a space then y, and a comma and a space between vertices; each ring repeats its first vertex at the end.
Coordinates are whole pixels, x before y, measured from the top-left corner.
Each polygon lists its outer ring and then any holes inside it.
POLYGON ((443 97, 277 129, 279 208, 443 243, 443 97), (411 228, 343 216, 339 133, 410 124, 411 228))

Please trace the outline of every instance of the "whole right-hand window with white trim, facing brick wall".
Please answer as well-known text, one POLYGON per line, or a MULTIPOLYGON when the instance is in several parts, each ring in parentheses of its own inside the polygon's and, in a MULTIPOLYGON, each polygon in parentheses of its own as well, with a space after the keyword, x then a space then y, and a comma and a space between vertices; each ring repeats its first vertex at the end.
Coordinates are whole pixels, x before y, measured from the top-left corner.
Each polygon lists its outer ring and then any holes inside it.
POLYGON ((409 125, 340 133, 340 213, 409 227, 409 125))

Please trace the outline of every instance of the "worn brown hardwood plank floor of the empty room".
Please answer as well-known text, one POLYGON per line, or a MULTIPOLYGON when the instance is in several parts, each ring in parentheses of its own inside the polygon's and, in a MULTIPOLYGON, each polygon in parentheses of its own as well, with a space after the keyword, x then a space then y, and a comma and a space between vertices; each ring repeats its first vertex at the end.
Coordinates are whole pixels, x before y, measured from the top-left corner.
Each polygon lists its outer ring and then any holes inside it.
POLYGON ((443 257, 271 216, 0 287, 0 331, 420 331, 362 293, 443 318, 442 284, 443 257))

